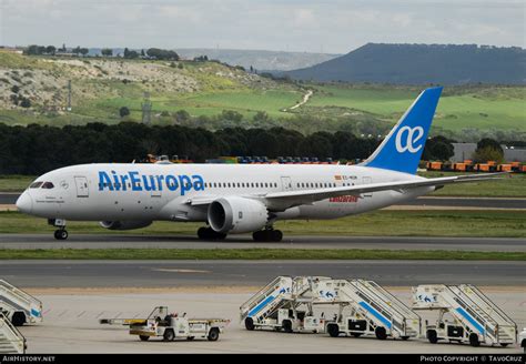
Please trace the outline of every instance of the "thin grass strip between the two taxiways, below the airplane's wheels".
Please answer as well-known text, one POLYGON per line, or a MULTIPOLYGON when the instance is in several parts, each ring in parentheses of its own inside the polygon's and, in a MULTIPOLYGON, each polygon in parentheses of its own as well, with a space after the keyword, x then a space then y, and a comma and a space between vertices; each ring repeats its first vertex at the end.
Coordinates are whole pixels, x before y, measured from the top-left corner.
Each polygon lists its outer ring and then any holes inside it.
POLYGON ((0 250, 0 260, 455 260, 525 261, 520 252, 301 249, 38 249, 0 250))

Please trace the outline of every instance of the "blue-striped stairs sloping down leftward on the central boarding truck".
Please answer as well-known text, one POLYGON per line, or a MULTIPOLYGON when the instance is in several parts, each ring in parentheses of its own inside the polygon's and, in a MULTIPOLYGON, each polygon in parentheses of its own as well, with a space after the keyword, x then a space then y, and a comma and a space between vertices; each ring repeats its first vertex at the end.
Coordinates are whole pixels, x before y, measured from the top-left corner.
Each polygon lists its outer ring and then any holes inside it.
POLYGON ((326 277, 279 276, 241 305, 240 318, 252 318, 254 323, 263 322, 265 318, 275 318, 280 309, 308 303, 313 300, 313 283, 324 279, 326 277))

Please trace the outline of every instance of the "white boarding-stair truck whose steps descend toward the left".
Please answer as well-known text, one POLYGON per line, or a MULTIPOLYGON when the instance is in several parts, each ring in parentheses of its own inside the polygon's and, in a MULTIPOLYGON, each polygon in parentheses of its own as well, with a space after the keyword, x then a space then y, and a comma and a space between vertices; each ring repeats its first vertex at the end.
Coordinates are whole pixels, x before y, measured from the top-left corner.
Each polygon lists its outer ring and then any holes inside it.
POLYGON ((313 305, 318 297, 322 276, 279 276, 261 289, 240 307, 240 321, 245 328, 273 328, 286 333, 323 333, 325 318, 315 315, 313 305))

